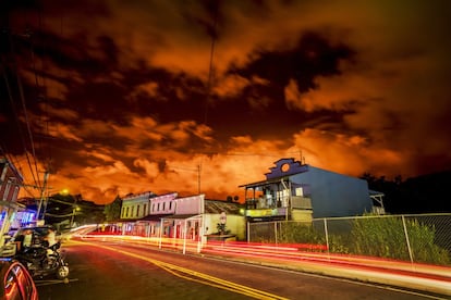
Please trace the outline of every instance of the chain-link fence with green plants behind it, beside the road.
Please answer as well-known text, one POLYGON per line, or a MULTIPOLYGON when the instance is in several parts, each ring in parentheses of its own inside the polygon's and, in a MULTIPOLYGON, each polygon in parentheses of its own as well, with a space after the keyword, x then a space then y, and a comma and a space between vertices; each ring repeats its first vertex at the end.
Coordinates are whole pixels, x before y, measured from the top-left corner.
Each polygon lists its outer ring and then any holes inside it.
POLYGON ((247 238, 254 242, 296 243, 302 251, 451 265, 451 214, 248 223, 247 238))

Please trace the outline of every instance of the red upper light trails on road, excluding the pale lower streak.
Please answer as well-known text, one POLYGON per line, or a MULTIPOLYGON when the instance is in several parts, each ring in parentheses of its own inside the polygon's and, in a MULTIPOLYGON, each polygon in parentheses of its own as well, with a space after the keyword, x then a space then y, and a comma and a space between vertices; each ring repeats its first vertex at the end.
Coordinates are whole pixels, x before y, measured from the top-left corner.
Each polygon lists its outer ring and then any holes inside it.
MULTIPOLYGON (((176 238, 146 238, 139 236, 124 235, 81 235, 83 240, 109 240, 109 241, 132 241, 134 243, 154 245, 161 248, 181 249, 183 239, 176 238)), ((197 252, 197 241, 185 241, 190 252, 197 252)), ((240 241, 209 241, 202 248, 202 253, 231 255, 242 258, 276 259, 288 262, 317 262, 325 264, 339 264, 341 266, 369 267, 374 270, 403 274, 415 274, 419 277, 442 279, 451 283, 450 267, 428 265, 420 263, 407 263, 389 259, 361 257, 351 254, 331 254, 327 252, 308 252, 300 249, 319 249, 316 246, 302 243, 253 243, 240 241)))

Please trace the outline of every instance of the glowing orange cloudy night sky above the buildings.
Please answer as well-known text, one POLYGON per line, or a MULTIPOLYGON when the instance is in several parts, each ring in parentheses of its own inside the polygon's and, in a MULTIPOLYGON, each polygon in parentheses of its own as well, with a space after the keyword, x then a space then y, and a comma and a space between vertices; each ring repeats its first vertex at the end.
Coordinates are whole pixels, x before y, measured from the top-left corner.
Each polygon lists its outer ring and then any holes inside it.
POLYGON ((1 146, 50 192, 243 199, 281 158, 451 168, 450 1, 4 2, 1 146))

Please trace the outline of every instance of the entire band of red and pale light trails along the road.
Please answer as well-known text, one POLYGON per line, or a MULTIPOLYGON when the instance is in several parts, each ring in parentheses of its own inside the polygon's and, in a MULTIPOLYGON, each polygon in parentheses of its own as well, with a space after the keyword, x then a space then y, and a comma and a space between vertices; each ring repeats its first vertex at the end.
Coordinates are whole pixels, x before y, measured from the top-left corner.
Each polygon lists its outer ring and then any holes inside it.
MULTIPOLYGON (((198 241, 175 238, 124 235, 83 235, 82 239, 126 241, 161 249, 182 249, 198 253, 198 241)), ((308 273, 328 274, 350 279, 395 285, 451 296, 451 268, 448 266, 402 262, 375 257, 332 254, 320 245, 252 243, 240 241, 208 241, 200 254, 257 261, 272 266, 308 273), (307 249, 307 251, 305 251, 307 249)))

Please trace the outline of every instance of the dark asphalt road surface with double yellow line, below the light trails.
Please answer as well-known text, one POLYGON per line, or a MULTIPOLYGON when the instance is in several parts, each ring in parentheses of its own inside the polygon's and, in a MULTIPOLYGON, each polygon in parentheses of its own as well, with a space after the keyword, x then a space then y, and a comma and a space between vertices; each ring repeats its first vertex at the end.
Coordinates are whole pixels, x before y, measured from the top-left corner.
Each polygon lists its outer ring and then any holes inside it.
POLYGON ((39 299, 438 299, 155 248, 66 242, 69 283, 36 280, 39 299))

